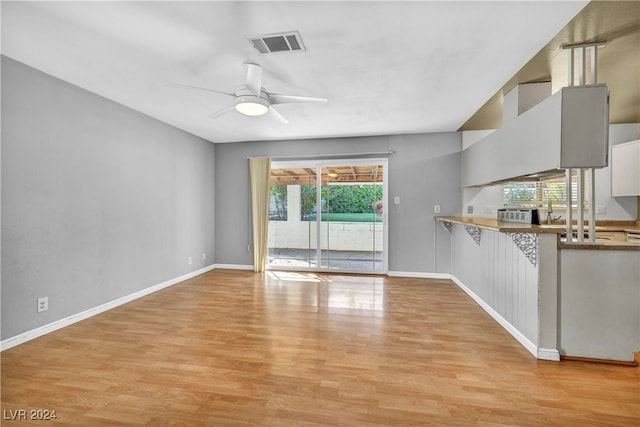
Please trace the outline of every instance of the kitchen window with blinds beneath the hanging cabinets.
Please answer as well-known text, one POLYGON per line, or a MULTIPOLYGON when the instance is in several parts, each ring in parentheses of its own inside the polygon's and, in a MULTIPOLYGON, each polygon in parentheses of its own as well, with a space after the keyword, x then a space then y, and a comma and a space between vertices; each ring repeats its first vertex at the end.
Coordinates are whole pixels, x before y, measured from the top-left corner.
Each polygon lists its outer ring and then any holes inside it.
MULTIPOLYGON (((588 194, 586 189, 588 180, 584 179, 583 172, 583 204, 588 209, 588 194)), ((578 199, 578 175, 574 174, 571 180, 571 198, 573 207, 577 208, 578 199)), ((505 184, 503 203, 509 208, 545 208, 551 206, 552 210, 567 209, 567 183, 565 177, 547 179, 543 181, 513 182, 505 184)))

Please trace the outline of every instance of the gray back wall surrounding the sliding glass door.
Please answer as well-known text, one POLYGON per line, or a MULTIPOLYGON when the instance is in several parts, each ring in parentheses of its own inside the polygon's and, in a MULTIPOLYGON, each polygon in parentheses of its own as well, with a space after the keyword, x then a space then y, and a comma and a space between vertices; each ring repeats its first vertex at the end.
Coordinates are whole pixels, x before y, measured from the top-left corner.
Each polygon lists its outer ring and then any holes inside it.
MULTIPOLYGON (((250 156, 295 156, 395 151, 389 156, 389 270, 434 273, 433 207, 459 215, 460 134, 372 136, 216 145, 216 264, 253 265, 250 156), (401 203, 393 205, 393 197, 401 203)), ((449 239, 442 238, 443 245, 449 239)), ((441 247, 437 270, 448 272, 450 251, 441 247)))

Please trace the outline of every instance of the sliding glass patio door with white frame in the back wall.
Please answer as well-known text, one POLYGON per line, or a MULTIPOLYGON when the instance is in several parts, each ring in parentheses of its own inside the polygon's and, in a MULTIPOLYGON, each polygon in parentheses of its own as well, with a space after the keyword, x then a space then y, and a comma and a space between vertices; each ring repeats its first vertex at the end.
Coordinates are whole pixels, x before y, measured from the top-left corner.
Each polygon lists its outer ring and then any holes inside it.
POLYGON ((274 161, 267 268, 385 273, 386 165, 274 161))

